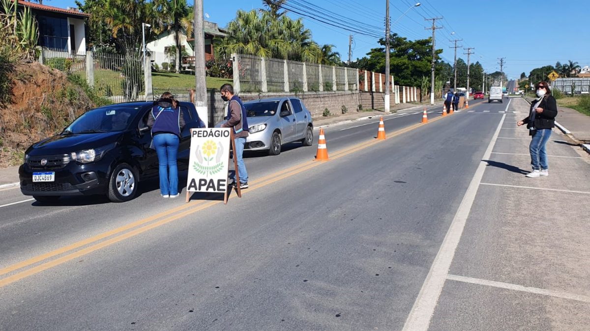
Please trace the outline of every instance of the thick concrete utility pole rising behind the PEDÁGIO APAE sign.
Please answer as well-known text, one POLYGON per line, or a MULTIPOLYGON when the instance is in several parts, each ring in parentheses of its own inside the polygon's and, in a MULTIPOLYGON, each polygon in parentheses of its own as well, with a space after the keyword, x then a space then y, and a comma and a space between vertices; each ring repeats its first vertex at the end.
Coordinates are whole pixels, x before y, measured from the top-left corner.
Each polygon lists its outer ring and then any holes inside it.
POLYGON ((199 118, 209 127, 207 84, 205 83, 205 32, 203 31, 203 0, 195 0, 195 108, 199 118))

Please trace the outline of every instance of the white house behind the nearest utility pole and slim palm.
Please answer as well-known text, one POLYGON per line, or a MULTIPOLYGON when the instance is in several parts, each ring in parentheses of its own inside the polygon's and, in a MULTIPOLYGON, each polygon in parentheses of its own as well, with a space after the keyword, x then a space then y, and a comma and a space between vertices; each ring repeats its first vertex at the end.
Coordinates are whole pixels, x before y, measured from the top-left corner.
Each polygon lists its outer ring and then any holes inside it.
MULTIPOLYGON (((203 22, 203 30, 205 32, 205 61, 209 61, 215 57, 213 39, 215 37, 224 38, 227 34, 225 33, 225 29, 219 28, 217 23, 208 21, 203 22)), ((188 54, 182 58, 182 67, 185 69, 194 68, 195 39, 194 37, 188 38, 184 29, 182 29, 180 37, 183 53, 186 52, 185 54, 188 54)), ((174 32, 172 30, 166 30, 159 34, 153 41, 148 42, 146 49, 148 49, 152 57, 152 63, 162 67, 163 62, 173 61, 173 57, 169 55, 169 49, 176 45, 174 38, 174 32)))

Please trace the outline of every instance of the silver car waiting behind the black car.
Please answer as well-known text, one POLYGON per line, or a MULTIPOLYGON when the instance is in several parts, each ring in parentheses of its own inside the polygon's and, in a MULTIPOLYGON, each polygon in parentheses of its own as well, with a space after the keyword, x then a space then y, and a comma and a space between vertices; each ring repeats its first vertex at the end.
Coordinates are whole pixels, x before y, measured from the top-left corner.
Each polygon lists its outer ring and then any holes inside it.
POLYGON ((244 102, 244 107, 250 128, 245 149, 278 155, 284 144, 293 141, 312 145, 312 114, 299 98, 260 99, 244 102))

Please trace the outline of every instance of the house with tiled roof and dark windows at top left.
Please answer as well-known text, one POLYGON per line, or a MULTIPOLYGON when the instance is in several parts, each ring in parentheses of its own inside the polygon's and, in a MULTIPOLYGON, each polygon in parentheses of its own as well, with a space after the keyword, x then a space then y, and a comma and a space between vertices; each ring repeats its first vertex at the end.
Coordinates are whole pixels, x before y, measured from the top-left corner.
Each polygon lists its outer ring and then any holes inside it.
POLYGON ((86 19, 89 14, 74 8, 58 8, 19 1, 19 7, 28 7, 37 19, 41 47, 68 54, 86 54, 86 19))

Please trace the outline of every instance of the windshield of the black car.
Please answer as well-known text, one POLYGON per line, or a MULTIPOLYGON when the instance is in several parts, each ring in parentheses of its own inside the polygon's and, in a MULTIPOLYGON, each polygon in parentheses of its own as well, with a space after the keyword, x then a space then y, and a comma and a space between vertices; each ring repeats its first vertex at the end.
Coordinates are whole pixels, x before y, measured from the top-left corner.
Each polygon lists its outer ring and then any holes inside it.
POLYGON ((103 107, 85 112, 64 130, 64 134, 124 131, 140 107, 103 107))

